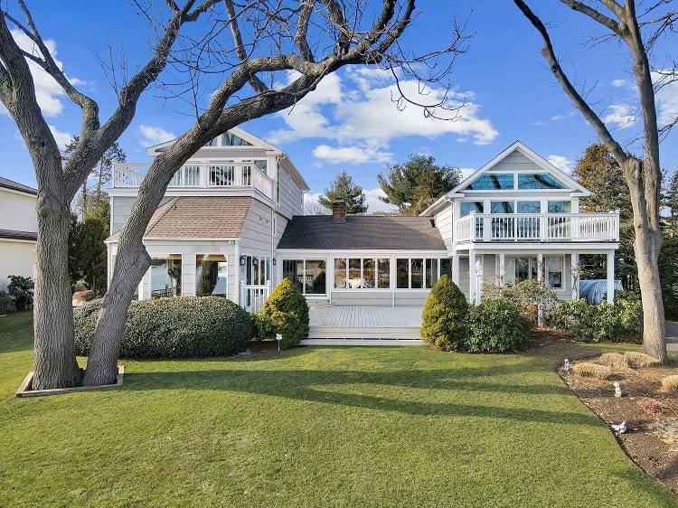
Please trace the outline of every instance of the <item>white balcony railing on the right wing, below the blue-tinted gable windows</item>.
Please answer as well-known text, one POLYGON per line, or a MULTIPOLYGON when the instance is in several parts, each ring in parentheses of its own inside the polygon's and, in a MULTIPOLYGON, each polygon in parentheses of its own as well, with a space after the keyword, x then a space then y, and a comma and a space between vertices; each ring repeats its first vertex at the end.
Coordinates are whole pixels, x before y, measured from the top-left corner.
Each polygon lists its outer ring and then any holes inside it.
POLYGON ((617 241, 619 214, 471 213, 455 223, 457 242, 617 241))

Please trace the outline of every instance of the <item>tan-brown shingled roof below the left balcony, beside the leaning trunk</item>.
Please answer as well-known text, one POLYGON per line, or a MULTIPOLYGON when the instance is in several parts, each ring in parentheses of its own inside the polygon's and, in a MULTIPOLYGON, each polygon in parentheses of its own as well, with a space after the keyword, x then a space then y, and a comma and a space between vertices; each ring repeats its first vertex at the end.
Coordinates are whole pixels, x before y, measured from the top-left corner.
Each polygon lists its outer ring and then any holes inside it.
MULTIPOLYGON (((144 234, 152 239, 238 239, 250 197, 179 196, 158 207, 144 234)), ((118 240, 119 231, 108 240, 118 240)))

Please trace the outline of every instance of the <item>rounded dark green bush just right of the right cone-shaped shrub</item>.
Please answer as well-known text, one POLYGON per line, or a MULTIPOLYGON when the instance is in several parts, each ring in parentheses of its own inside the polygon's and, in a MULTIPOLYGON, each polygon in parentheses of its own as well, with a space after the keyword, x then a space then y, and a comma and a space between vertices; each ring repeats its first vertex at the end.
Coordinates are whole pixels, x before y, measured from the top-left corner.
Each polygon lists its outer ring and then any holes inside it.
POLYGON ((523 351, 528 330, 518 306, 504 298, 485 300, 468 312, 468 353, 505 353, 523 351))

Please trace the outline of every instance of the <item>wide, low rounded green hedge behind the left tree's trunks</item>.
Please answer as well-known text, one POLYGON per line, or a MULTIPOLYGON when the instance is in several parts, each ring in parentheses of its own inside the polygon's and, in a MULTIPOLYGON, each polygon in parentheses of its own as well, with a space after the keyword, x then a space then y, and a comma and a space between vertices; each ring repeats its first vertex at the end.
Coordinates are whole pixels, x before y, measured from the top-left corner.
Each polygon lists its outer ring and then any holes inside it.
MULTIPOLYGON (((103 300, 73 312, 76 353, 89 354, 103 300)), ((127 312, 121 358, 206 358, 245 349, 250 315, 219 296, 177 296, 132 302, 127 312)))

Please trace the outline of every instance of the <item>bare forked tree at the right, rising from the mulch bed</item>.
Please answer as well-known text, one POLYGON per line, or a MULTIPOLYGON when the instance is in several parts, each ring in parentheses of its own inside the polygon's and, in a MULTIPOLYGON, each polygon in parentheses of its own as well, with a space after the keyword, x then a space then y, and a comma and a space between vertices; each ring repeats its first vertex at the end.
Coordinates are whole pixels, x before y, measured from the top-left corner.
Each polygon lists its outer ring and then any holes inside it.
MULTIPOLYGON (((589 124, 595 128, 607 150, 615 157, 621 167, 628 185, 633 207, 638 283, 643 301, 645 353, 662 362, 666 362, 666 334, 664 329, 664 306, 659 280, 657 259, 662 248, 659 210, 661 206, 662 172, 659 162, 659 129, 654 102, 654 84, 648 54, 654 42, 666 30, 673 29, 678 12, 668 10, 669 2, 653 2, 649 5, 644 19, 636 13, 636 2, 626 0, 600 0, 599 2, 579 2, 560 0, 560 3, 575 12, 587 16, 607 30, 607 38, 626 47, 630 53, 632 71, 636 78, 636 89, 640 103, 639 114, 643 122, 642 157, 626 153, 625 149, 607 129, 587 99, 572 84, 556 57, 551 36, 541 18, 523 0, 513 0, 532 26, 541 35, 543 48, 541 54, 548 61, 551 72, 560 82, 560 86, 570 97, 572 103, 589 124), (659 13, 660 9, 664 9, 659 13), (652 17, 652 19, 650 19, 652 17), (652 27, 654 28, 654 31, 652 27), (644 29, 645 28, 645 29, 644 29), (645 34, 645 40, 644 40, 645 34)), ((672 75, 668 72, 667 76, 672 75)), ((675 72, 673 71, 673 77, 675 72)), ((665 80, 664 80, 665 83, 665 80)), ((674 122, 673 122, 674 123, 674 122)), ((673 125, 673 123, 671 125, 673 125)))

